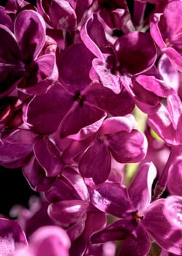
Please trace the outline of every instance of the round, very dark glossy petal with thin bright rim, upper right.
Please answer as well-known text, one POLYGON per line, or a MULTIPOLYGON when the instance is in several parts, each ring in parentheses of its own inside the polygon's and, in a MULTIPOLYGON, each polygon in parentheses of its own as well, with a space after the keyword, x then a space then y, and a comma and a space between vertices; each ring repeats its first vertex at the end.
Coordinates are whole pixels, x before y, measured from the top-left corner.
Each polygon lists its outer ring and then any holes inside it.
POLYGON ((116 53, 120 72, 139 74, 149 70, 157 58, 157 50, 150 34, 138 31, 124 34, 117 39, 116 53))

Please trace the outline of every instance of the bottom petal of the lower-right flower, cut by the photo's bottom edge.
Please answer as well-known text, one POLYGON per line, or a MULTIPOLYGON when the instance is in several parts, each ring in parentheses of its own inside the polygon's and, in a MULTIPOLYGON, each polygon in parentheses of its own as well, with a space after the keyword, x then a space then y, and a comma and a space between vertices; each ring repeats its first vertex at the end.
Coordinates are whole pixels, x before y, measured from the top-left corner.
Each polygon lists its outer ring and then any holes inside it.
POLYGON ((146 256, 151 247, 149 236, 143 227, 138 227, 135 236, 127 236, 119 256, 146 256))

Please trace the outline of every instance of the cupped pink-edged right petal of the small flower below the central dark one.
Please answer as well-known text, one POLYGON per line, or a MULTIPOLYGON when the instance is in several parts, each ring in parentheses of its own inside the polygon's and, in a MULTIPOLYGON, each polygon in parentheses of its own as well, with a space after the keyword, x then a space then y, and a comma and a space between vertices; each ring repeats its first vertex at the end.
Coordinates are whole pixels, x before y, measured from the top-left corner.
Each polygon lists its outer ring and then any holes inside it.
POLYGON ((136 129, 132 132, 117 132, 108 135, 111 154, 117 162, 139 162, 146 156, 147 141, 136 129))

